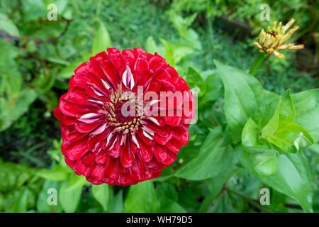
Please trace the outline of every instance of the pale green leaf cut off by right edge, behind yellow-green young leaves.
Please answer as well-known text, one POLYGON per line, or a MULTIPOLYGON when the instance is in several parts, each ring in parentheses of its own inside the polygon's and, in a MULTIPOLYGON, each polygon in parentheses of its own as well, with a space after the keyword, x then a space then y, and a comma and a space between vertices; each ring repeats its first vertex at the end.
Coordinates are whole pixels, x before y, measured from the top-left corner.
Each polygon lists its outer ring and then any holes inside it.
POLYGON ((319 89, 299 92, 292 95, 296 109, 295 123, 310 133, 319 142, 319 89))

